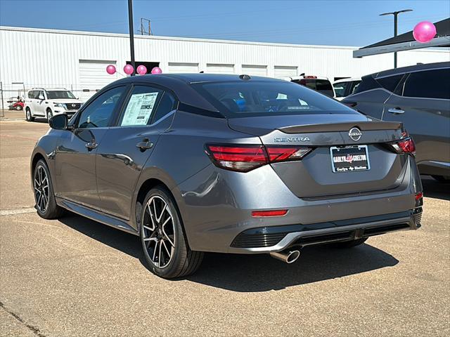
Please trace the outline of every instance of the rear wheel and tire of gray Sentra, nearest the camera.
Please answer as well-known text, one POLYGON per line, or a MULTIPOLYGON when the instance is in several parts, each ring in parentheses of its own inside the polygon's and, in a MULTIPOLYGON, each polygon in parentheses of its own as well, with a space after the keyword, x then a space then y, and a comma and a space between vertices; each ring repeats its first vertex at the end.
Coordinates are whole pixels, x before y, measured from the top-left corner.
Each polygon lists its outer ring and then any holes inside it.
POLYGON ((172 279, 192 274, 203 260, 203 252, 191 251, 178 207, 163 186, 150 190, 141 208, 139 234, 150 270, 172 279))

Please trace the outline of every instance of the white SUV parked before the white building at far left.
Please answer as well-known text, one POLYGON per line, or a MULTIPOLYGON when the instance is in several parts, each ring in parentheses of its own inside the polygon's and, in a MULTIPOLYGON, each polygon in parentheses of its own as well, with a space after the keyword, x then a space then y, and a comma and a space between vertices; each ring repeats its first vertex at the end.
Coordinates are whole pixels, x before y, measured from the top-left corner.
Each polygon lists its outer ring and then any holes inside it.
POLYGON ((82 106, 82 100, 65 88, 33 88, 25 98, 25 117, 33 121, 34 117, 51 119, 56 114, 67 114, 71 117, 82 106))

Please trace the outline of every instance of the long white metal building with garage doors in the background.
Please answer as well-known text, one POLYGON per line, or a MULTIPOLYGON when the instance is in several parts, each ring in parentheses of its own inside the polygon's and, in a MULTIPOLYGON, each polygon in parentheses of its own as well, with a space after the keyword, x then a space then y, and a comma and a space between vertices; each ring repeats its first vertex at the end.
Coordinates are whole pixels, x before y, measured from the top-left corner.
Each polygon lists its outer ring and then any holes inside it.
MULTIPOLYGON (((23 88, 65 87, 89 98, 120 78, 105 68, 122 69, 130 60, 127 34, 74 32, 0 26, 0 81, 4 100, 23 88), (89 92, 87 92, 89 90, 89 92), (84 92, 83 92, 84 91, 84 92)), ((360 77, 393 67, 393 55, 355 59, 358 47, 306 46, 261 42, 135 36, 136 62, 159 65, 162 72, 210 72, 287 77, 301 73, 331 81, 360 77)), ((399 67, 450 60, 448 50, 399 53, 399 67)), ((150 69, 148 70, 150 71, 150 69)))

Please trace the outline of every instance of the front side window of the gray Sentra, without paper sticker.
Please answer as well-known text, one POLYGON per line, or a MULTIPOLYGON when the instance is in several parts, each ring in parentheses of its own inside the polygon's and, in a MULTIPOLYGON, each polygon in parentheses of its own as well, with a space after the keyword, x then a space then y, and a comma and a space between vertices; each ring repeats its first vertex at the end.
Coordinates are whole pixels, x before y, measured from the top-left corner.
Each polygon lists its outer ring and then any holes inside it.
POLYGON ((113 88, 98 96, 82 111, 78 128, 101 128, 108 126, 113 112, 125 91, 124 86, 113 88))

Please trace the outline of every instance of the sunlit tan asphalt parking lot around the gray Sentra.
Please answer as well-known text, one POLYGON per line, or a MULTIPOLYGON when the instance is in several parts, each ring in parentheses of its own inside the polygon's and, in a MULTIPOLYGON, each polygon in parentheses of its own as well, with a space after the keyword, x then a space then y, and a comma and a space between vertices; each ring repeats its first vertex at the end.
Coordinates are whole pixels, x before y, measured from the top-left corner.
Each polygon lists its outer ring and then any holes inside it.
POLYGON ((208 254, 187 279, 144 264, 137 237, 32 206, 45 121, 0 121, 1 336, 449 336, 450 186, 423 180, 423 227, 355 249, 208 254))

